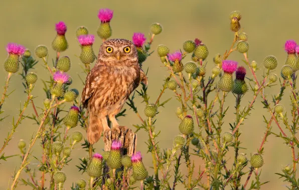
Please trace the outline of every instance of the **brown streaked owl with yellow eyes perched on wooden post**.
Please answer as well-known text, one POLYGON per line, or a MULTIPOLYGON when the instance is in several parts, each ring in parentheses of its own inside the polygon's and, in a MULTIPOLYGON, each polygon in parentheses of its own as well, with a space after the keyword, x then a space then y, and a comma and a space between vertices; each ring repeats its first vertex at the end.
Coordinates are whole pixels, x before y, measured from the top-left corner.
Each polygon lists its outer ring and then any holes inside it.
POLYGON ((94 144, 102 131, 119 124, 115 115, 120 112, 130 93, 147 78, 138 64, 135 45, 127 39, 109 39, 99 49, 98 59, 86 77, 81 102, 89 111, 87 139, 94 144))

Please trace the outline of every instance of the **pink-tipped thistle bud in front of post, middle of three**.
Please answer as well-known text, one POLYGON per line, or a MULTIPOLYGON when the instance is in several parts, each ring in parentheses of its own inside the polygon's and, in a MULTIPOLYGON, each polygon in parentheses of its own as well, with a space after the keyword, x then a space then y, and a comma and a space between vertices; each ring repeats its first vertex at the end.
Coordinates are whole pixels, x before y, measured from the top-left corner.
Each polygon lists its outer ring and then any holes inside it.
POLYGON ((120 148, 121 148, 121 142, 114 140, 112 142, 110 154, 107 159, 108 166, 113 169, 120 168, 120 166, 121 166, 120 148))

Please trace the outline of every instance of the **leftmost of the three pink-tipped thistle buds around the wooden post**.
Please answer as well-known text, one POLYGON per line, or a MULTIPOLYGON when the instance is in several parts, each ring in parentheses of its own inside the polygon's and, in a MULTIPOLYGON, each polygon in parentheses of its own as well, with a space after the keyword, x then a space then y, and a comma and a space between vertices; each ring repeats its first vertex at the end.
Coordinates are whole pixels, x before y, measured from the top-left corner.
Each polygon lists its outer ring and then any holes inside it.
POLYGON ((103 156, 99 153, 93 154, 91 160, 87 165, 87 173, 91 177, 100 177, 102 175, 102 160, 103 156))

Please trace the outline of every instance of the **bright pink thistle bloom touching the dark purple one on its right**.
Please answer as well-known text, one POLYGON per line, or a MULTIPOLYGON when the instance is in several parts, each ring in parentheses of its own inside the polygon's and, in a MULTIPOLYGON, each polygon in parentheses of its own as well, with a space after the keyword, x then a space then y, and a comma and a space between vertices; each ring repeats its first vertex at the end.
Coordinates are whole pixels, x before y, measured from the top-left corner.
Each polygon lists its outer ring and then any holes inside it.
POLYGON ((218 88, 222 91, 231 91, 234 85, 233 72, 236 70, 238 62, 233 60, 223 60, 222 69, 224 74, 218 81, 218 88))

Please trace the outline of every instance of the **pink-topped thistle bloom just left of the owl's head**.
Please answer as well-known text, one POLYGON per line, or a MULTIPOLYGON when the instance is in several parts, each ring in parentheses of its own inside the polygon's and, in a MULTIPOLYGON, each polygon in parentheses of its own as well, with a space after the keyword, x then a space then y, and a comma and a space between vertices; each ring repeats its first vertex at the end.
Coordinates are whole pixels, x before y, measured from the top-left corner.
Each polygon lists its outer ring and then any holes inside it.
POLYGON ((81 53, 80 53, 80 60, 84 64, 92 63, 96 56, 94 54, 92 44, 94 42, 94 35, 87 34, 87 35, 79 35, 78 41, 81 44, 81 53))

